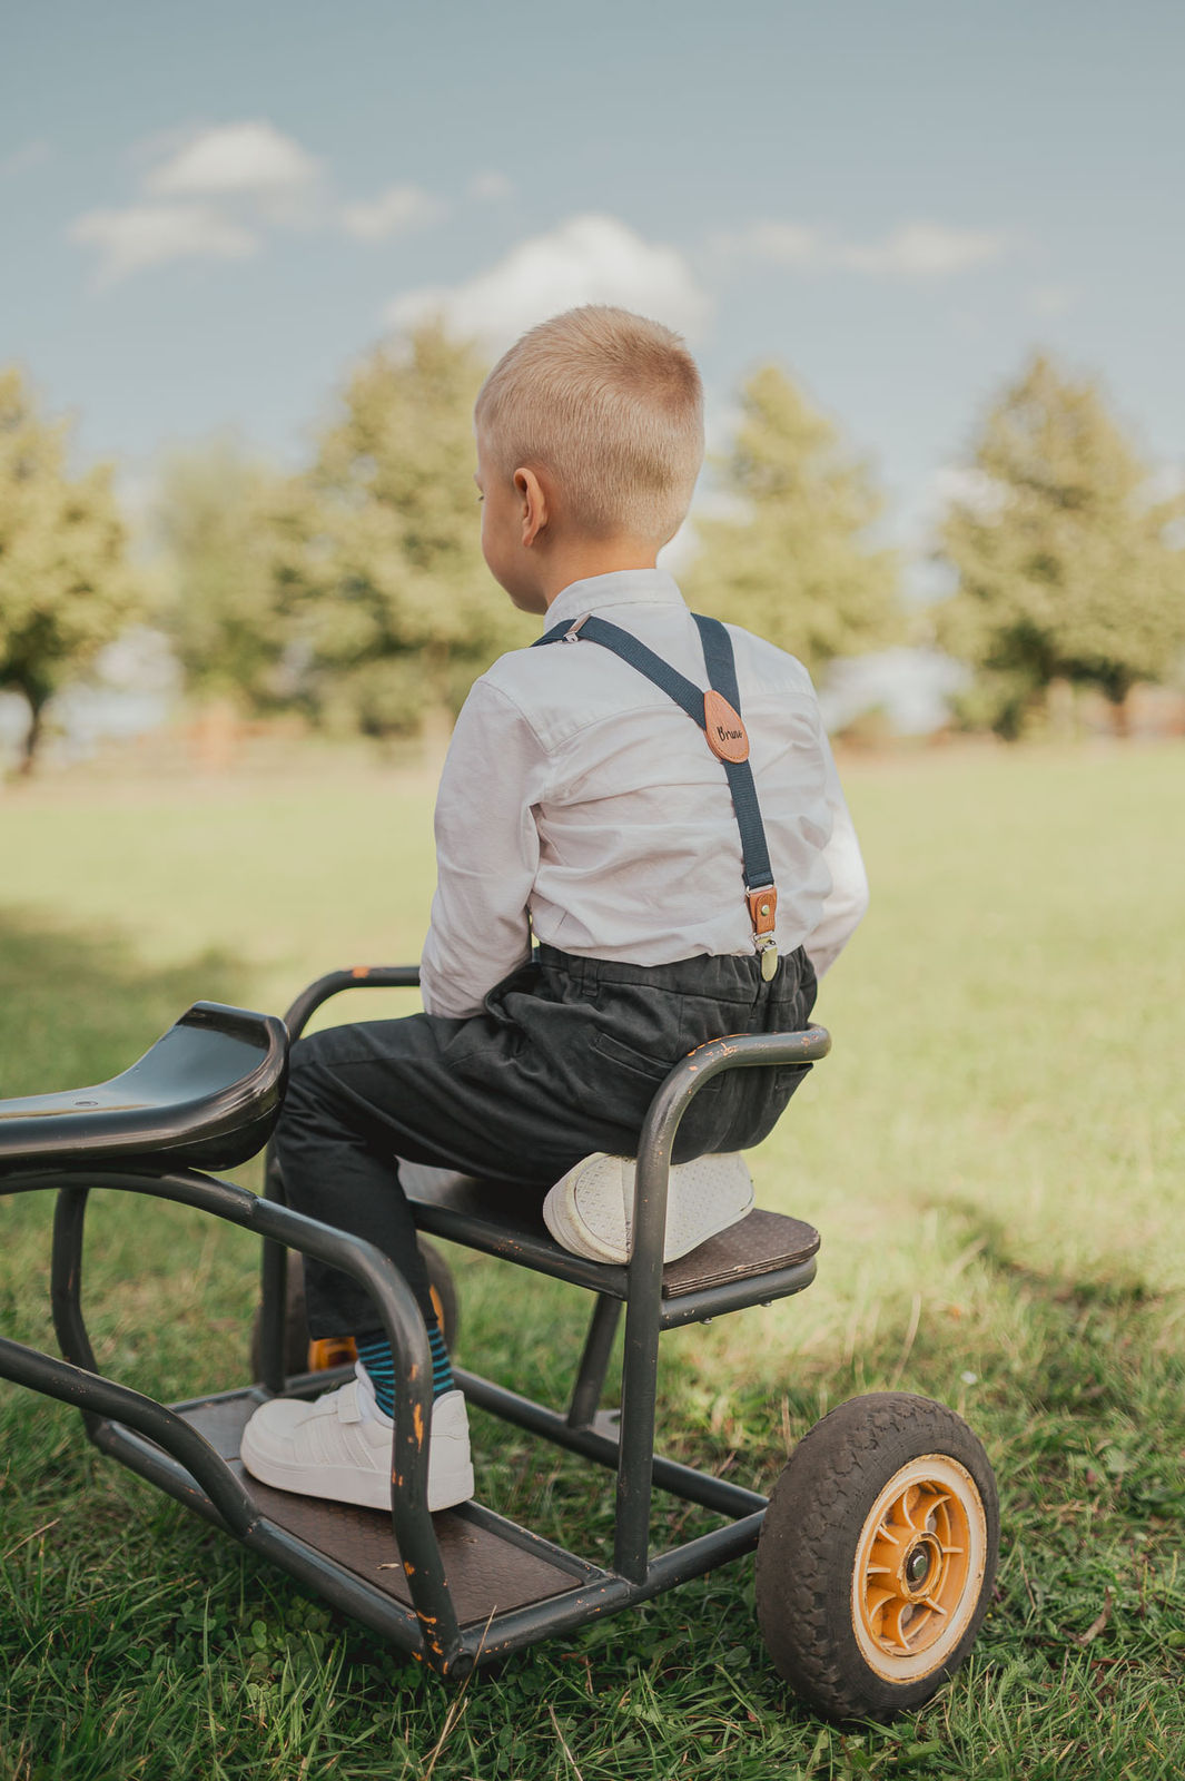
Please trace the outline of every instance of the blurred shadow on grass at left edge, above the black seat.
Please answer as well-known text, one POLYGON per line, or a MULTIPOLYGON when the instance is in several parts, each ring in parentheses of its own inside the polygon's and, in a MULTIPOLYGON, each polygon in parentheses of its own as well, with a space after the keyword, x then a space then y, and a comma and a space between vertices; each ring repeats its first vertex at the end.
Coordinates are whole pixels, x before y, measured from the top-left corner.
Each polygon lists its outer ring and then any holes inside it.
POLYGON ((130 933, 0 910, 0 1095, 75 1088, 133 1063, 194 1001, 242 1001, 226 951, 153 969, 130 933))

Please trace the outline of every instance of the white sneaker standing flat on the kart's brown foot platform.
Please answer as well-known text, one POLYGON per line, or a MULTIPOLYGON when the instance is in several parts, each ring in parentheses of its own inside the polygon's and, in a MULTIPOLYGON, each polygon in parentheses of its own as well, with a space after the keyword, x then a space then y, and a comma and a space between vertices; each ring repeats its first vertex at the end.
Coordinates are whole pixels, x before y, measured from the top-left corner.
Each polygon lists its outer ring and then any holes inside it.
MULTIPOLYGON (((361 1361, 356 1378, 315 1402, 270 1398, 242 1432, 238 1457, 260 1484, 327 1496, 359 1509, 391 1507, 393 1421, 374 1402, 361 1361)), ((429 1509, 473 1496, 470 1419, 461 1391, 434 1400, 429 1423, 429 1509)))

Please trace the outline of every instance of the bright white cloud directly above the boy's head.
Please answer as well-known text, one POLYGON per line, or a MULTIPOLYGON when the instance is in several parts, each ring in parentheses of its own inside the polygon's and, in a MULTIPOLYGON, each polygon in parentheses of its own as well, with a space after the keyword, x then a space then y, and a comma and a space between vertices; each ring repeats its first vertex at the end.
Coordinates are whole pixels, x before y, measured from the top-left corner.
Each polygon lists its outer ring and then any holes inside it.
POLYGON ((384 319, 409 328, 441 315, 454 333, 500 347, 578 303, 619 303, 692 338, 712 312, 712 299, 674 248, 642 240, 616 217, 578 216, 520 242, 463 285, 406 292, 384 319))

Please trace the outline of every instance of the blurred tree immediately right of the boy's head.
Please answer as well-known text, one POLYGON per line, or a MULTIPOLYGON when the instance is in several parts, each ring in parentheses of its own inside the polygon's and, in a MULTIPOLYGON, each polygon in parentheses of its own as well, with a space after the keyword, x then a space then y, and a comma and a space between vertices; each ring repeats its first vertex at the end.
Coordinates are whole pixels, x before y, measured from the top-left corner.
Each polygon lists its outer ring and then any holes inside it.
POLYGON ((895 641, 897 565, 865 538, 881 506, 868 472, 776 365, 749 379, 740 406, 721 465, 738 511, 696 520, 692 606, 758 630, 811 673, 895 641))

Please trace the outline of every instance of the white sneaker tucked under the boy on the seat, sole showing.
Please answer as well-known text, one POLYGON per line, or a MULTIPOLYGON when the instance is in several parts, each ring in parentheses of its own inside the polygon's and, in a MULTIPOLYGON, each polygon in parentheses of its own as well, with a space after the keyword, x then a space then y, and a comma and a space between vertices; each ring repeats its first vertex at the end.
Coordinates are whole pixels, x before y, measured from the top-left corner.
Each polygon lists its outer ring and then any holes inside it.
MULTIPOLYGON (((555 1183, 543 1202, 543 1222, 562 1248, 585 1261, 630 1259, 635 1167, 632 1156, 598 1151, 555 1183)), ((740 1152, 676 1163, 667 1188, 662 1259, 687 1256, 749 1211, 753 1177, 740 1152)))

